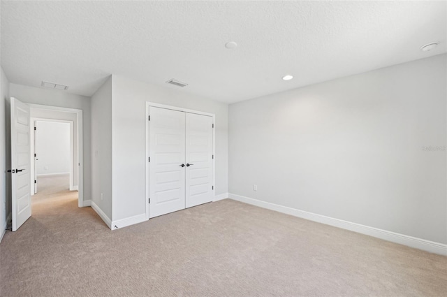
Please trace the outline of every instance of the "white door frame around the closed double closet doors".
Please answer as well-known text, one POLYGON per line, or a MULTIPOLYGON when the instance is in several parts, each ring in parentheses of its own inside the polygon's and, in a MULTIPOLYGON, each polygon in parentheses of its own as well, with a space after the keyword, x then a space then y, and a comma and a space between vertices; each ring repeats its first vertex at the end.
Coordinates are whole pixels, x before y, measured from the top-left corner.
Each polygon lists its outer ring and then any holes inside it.
MULTIPOLYGON (((165 104, 154 103, 146 101, 146 199, 149 199, 149 107, 165 108, 170 110, 181 111, 183 113, 195 113, 197 115, 207 115, 212 117, 212 124, 214 128, 212 129, 212 154, 214 159, 212 159, 212 184, 214 189, 212 190, 213 196, 216 196, 216 115, 214 113, 205 113, 199 110, 192 110, 188 108, 180 108, 177 106, 168 106, 165 104)), ((146 219, 149 219, 149 201, 146 203, 146 219)))

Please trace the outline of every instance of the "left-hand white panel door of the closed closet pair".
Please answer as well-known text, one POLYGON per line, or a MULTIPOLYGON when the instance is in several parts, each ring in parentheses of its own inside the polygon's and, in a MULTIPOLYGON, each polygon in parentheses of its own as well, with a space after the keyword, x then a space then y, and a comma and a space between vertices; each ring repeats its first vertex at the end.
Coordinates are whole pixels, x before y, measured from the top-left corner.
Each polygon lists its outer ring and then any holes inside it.
POLYGON ((185 114, 149 107, 149 217, 185 208, 185 114))

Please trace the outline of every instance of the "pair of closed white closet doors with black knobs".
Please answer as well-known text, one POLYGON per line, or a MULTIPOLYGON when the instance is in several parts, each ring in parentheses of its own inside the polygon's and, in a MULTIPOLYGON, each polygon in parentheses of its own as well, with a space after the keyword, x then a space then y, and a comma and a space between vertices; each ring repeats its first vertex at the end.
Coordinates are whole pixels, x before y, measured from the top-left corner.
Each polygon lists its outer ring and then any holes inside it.
POLYGON ((149 218, 211 202, 213 119, 149 106, 149 218))

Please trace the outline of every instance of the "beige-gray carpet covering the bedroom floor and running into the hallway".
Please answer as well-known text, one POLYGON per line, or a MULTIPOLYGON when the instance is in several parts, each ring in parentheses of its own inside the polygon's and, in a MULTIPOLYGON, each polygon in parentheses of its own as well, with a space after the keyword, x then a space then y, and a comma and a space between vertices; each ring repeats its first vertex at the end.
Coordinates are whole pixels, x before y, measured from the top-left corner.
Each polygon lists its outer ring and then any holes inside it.
POLYGON ((76 192, 0 245, 1 296, 447 296, 447 257, 229 199, 110 231, 76 192))

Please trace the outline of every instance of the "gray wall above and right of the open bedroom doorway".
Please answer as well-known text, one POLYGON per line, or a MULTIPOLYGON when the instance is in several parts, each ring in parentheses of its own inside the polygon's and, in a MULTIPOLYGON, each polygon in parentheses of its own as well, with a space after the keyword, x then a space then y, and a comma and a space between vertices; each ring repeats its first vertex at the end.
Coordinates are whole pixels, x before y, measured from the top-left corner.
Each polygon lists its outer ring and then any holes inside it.
POLYGON ((91 197, 91 167, 90 167, 90 98, 70 94, 57 89, 43 89, 24 85, 9 84, 10 96, 25 103, 41 104, 82 110, 83 126, 83 158, 84 158, 84 200, 91 197))

